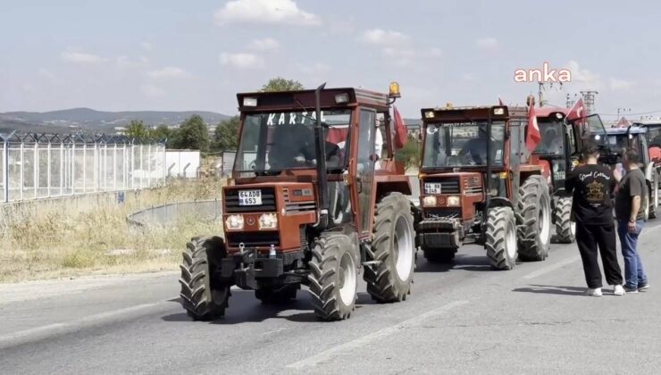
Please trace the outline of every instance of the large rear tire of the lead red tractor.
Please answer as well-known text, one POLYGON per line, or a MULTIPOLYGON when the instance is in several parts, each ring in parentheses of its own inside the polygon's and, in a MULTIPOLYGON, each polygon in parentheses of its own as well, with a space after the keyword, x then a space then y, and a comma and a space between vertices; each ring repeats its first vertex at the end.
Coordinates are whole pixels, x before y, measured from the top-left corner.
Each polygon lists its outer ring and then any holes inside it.
POLYGON ((406 300, 415 267, 415 232, 406 196, 390 193, 381 198, 374 215, 374 239, 364 267, 367 293, 381 303, 406 300))

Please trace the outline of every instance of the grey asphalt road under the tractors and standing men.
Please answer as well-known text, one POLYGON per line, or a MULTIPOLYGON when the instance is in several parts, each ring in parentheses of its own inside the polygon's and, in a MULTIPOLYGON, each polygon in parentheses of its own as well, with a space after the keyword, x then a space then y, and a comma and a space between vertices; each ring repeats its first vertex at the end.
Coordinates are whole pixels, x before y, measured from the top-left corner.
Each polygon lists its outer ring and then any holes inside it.
POLYGON ((270 307, 240 290, 224 319, 189 321, 173 273, 5 285, 0 374, 655 374, 659 243, 661 221, 649 221, 640 253, 652 287, 638 295, 583 296, 574 245, 513 271, 464 246, 452 266, 420 259, 406 302, 361 292, 339 322, 316 321, 305 291, 270 307))

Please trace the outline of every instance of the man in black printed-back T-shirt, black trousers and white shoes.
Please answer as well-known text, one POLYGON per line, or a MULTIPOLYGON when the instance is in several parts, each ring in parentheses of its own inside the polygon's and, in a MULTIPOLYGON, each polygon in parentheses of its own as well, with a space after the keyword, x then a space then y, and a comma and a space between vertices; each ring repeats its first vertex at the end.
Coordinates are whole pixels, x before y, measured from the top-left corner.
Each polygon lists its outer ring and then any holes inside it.
POLYGON ((588 283, 586 294, 602 296, 601 271, 597 260, 599 252, 608 285, 614 286, 615 296, 623 296, 622 271, 617 263, 613 206, 610 201, 615 178, 607 167, 598 165, 597 146, 586 146, 583 154, 587 158, 586 163, 576 167, 565 179, 565 189, 567 193, 573 193, 576 243, 588 283))

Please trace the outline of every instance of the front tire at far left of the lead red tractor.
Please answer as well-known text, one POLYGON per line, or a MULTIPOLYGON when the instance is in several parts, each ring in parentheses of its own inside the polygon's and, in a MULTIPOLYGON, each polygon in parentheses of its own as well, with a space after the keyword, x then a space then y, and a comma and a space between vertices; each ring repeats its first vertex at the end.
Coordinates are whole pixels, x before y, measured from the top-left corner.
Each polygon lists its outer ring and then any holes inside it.
POLYGON ((180 264, 181 306, 196 321, 209 321, 225 314, 230 286, 213 274, 215 262, 226 254, 221 237, 195 237, 186 245, 180 264))

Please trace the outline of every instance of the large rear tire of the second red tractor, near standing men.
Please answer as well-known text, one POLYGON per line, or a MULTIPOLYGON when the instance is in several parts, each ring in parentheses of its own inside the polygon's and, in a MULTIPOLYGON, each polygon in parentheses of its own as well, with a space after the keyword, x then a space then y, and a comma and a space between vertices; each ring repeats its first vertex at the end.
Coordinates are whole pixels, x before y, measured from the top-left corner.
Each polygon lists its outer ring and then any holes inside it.
POLYGON ((516 224, 521 260, 545 260, 551 245, 551 197, 539 175, 529 177, 519 188, 516 224))

